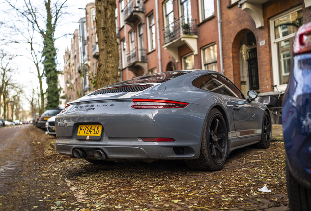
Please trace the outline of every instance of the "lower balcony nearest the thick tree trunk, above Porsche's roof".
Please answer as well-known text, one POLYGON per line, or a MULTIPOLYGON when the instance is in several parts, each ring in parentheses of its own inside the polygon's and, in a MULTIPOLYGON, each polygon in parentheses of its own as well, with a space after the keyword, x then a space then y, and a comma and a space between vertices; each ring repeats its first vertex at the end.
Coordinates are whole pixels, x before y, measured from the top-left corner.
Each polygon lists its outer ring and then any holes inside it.
POLYGON ((144 73, 148 73, 147 67, 147 50, 146 49, 137 49, 129 51, 126 54, 128 66, 127 68, 131 70, 134 74, 137 75, 138 68, 142 68, 144 73))

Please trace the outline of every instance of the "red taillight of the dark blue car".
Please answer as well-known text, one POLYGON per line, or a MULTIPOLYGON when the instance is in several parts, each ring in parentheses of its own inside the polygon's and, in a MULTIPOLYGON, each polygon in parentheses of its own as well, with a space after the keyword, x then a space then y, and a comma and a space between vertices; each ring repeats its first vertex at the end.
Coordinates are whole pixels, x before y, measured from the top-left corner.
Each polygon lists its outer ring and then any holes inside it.
POLYGON ((296 32, 293 52, 295 55, 311 52, 311 23, 302 25, 296 32))

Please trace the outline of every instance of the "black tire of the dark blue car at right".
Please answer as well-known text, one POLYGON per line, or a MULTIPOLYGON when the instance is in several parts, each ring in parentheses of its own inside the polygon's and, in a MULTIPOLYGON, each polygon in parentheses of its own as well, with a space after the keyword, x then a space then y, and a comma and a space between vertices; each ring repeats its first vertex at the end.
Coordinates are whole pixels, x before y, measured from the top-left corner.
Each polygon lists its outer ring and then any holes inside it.
POLYGON ((300 185, 286 164, 286 186, 292 211, 311 211, 311 189, 300 185))

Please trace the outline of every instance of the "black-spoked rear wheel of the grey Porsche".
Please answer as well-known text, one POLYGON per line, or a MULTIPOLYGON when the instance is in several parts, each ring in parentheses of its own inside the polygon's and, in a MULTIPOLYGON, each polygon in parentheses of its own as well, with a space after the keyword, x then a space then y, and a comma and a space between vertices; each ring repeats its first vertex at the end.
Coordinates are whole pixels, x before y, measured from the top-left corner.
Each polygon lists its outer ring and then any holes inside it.
POLYGON ((186 164, 193 170, 220 170, 227 158, 227 148, 227 125, 221 112, 214 108, 204 124, 199 158, 186 160, 186 164))

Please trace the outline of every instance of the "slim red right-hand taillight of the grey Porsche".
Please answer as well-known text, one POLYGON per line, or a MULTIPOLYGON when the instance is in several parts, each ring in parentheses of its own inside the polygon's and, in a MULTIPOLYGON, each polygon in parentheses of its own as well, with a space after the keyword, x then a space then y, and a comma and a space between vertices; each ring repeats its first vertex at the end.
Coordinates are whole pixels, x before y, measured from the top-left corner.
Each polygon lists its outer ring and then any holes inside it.
POLYGON ((162 108, 183 108, 188 103, 168 100, 152 100, 152 99, 133 99, 135 109, 162 109, 162 108))

